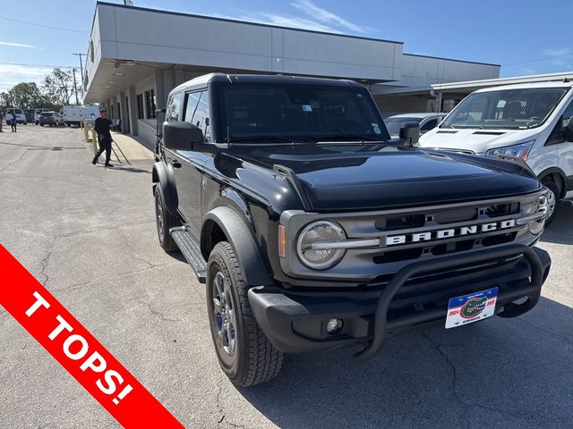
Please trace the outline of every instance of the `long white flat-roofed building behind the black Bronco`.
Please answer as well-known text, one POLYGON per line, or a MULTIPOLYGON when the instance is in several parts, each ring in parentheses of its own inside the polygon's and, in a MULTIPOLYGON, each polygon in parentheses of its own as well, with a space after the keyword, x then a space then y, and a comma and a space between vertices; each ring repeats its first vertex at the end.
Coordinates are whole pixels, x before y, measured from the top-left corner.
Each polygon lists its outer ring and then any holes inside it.
POLYGON ((441 109, 432 84, 499 77, 500 65, 404 53, 402 42, 98 2, 84 76, 86 103, 155 140, 155 109, 211 71, 349 79, 384 115, 441 109))

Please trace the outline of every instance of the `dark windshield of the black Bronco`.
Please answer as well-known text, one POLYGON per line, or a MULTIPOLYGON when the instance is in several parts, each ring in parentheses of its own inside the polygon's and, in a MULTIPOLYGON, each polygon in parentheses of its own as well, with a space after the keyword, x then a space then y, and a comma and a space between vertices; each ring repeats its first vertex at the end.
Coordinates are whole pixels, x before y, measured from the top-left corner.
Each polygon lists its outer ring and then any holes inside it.
POLYGON ((389 139, 376 105, 361 88, 222 85, 218 104, 221 135, 231 143, 389 139))

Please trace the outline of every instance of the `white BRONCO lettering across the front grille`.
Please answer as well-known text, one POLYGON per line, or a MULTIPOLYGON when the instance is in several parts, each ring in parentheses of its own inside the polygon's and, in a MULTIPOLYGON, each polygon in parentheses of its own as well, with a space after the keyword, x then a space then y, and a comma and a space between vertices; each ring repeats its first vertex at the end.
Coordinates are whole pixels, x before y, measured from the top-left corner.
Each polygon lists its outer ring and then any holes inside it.
POLYGON ((500 222, 480 223, 477 225, 459 226, 458 228, 448 228, 445 230, 423 231, 412 234, 389 235, 386 237, 386 246, 395 246, 398 244, 419 243, 422 241, 451 239, 473 235, 483 232, 499 231, 516 226, 515 219, 507 219, 500 222))

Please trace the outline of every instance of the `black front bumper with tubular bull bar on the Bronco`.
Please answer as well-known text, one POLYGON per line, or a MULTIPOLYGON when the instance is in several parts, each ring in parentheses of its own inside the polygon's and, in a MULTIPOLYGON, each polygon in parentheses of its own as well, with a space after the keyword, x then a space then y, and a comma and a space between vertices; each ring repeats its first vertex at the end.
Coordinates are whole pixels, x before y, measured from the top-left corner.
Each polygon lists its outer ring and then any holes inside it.
POLYGON ((525 313, 535 307, 550 266, 544 250, 510 245, 406 265, 382 289, 291 291, 261 286, 248 296, 261 330, 277 349, 295 353, 365 343, 357 356, 369 358, 389 335, 445 320, 453 297, 497 286, 496 314, 525 313), (326 332, 332 318, 344 321, 337 335, 326 332))

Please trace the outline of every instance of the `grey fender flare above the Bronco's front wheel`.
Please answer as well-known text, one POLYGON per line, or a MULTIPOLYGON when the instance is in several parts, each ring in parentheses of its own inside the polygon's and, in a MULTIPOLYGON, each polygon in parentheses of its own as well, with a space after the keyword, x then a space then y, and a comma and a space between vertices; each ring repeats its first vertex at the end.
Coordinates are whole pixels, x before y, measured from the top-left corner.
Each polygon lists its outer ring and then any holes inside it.
POLYGON ((250 286, 272 285, 274 282, 267 273, 259 247, 252 237, 251 229, 240 214, 227 206, 218 206, 203 217, 201 227, 201 248, 207 225, 210 221, 216 223, 223 231, 233 250, 244 275, 244 280, 250 286))

